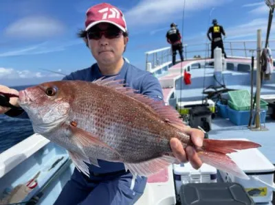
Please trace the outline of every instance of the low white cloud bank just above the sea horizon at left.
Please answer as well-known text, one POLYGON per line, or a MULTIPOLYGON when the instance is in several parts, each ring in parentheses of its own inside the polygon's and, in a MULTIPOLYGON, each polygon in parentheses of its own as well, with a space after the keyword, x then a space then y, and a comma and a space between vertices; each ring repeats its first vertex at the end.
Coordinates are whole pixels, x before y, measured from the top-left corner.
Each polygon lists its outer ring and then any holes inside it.
MULTIPOLYGON (((61 72, 61 69, 58 69, 58 72, 61 72)), ((1 80, 15 80, 15 79, 34 79, 42 77, 63 77, 63 75, 58 73, 41 73, 41 72, 32 72, 29 70, 17 71, 15 69, 6 69, 0 68, 0 79, 1 80)))

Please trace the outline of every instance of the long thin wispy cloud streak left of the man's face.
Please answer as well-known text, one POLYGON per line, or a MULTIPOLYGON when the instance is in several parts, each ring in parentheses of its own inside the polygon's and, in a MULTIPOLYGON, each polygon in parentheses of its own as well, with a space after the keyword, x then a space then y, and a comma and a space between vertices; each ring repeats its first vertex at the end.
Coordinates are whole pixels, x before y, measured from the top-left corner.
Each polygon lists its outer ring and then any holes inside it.
POLYGON ((32 45, 25 48, 19 48, 12 51, 6 51, 0 53, 0 57, 9 57, 9 56, 27 56, 27 55, 37 55, 43 53, 52 53, 57 51, 65 51, 67 47, 72 47, 83 43, 82 40, 72 40, 69 42, 61 43, 60 45, 50 45, 50 43, 40 43, 39 45, 32 45))

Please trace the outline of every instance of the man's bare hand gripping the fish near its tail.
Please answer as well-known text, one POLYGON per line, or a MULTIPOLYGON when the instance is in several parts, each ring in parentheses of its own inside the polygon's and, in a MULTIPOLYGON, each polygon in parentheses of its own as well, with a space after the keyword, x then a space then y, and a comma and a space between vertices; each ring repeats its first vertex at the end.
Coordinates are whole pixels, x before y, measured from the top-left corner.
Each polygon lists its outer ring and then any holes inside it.
MULTIPOLYGON (((194 128, 186 128, 184 130, 186 134, 190 135, 192 143, 194 143, 197 147, 201 147, 203 144, 204 134, 201 130, 194 128)), ((181 145, 181 142, 177 138, 170 139, 170 146, 172 148, 173 154, 175 157, 181 162, 190 162, 192 167, 195 169, 199 169, 201 167, 202 162, 195 149, 191 146, 184 148, 181 145)))

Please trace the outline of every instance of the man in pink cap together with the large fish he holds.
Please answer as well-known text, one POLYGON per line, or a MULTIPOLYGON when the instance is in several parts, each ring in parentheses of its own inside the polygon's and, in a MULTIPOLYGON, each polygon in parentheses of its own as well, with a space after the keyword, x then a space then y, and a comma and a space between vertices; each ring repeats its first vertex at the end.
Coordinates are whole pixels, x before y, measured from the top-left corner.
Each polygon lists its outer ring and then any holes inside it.
POLYGON ((196 169, 203 159, 245 177, 225 154, 235 145, 259 145, 203 140, 203 132, 164 106, 157 78, 122 57, 129 40, 122 12, 100 3, 86 15, 79 36, 96 64, 20 92, 0 86, 10 104, 23 108, 0 106, 0 113, 29 117, 34 132, 65 147, 76 165, 55 204, 134 204, 146 176, 187 160, 196 169))

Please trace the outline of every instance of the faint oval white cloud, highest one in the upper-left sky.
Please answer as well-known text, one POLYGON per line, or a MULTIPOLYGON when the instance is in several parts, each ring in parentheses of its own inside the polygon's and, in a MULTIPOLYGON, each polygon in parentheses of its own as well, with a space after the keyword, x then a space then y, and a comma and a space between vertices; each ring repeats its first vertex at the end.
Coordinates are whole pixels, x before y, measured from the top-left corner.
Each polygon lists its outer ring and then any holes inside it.
POLYGON ((5 28, 5 35, 14 38, 47 38, 65 32, 65 25, 45 16, 29 16, 5 28))

